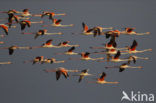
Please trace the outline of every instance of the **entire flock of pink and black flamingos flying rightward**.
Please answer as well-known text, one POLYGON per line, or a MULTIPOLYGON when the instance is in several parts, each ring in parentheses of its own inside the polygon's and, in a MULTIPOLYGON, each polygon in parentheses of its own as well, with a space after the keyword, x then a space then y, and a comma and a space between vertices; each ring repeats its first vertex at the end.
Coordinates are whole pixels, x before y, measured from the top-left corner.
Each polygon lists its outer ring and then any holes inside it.
MULTIPOLYGON (((32 35, 34 37, 34 40, 36 40, 39 37, 44 38, 45 35, 52 36, 52 35, 64 35, 61 31, 58 32, 48 32, 48 28, 72 28, 75 26, 75 24, 63 24, 62 19, 58 19, 58 16, 63 18, 63 16, 66 16, 68 14, 66 13, 55 13, 53 11, 43 11, 39 14, 32 14, 29 9, 24 9, 21 11, 12 9, 8 11, 0 11, 0 14, 7 15, 6 18, 0 18, 0 22, 4 22, 0 24, 0 39, 3 40, 3 38, 7 38, 11 34, 10 29, 17 29, 20 26, 21 34, 32 35), (40 18, 41 21, 33 21, 31 18, 40 18), (51 24, 45 24, 42 20, 43 18, 48 17, 51 24), (18 26, 19 25, 19 26, 18 26), (41 26, 41 29, 38 31, 26 31, 26 28, 31 28, 31 25, 39 25, 41 26), (48 28, 46 28, 48 27, 48 28), (46 29, 45 29, 46 28, 46 29)), ((90 47, 89 49, 93 52, 88 51, 82 51, 82 52, 74 52, 77 49, 81 49, 81 45, 79 44, 73 44, 71 41, 61 41, 58 43, 58 45, 54 45, 53 42, 55 42, 55 39, 48 39, 44 43, 41 43, 36 46, 20 46, 20 45, 10 45, 9 47, 5 47, 5 41, 0 41, 0 49, 1 51, 5 52, 5 49, 8 50, 8 55, 17 55, 15 52, 17 50, 34 50, 38 48, 46 49, 46 48, 53 48, 59 49, 59 48, 65 48, 64 51, 60 53, 54 53, 55 55, 66 55, 70 56, 67 60, 62 60, 50 57, 47 58, 45 56, 36 56, 34 58, 30 58, 30 60, 23 60, 24 63, 32 63, 32 65, 38 65, 38 64, 51 64, 58 63, 60 66, 58 68, 49 68, 44 69, 46 73, 52 73, 55 72, 56 74, 56 80, 58 81, 61 77, 61 75, 64 76, 65 79, 70 79, 69 77, 79 77, 78 82, 85 81, 88 77, 91 76, 96 77, 95 81, 88 81, 86 83, 96 83, 96 84, 118 84, 118 81, 106 81, 106 72, 102 71, 102 73, 89 73, 88 68, 85 68, 83 70, 79 69, 66 69, 65 67, 61 67, 61 63, 66 63, 71 60, 79 60, 79 61, 94 61, 94 62, 114 62, 114 63, 121 63, 120 65, 111 65, 111 66, 103 66, 103 68, 106 68, 107 70, 111 68, 119 68, 119 72, 123 72, 125 69, 141 69, 143 66, 133 66, 133 64, 136 64, 136 61, 138 60, 148 60, 148 57, 139 57, 136 56, 138 53, 144 53, 148 51, 152 51, 151 48, 144 49, 144 50, 138 50, 138 42, 137 40, 133 40, 132 44, 129 43, 129 46, 120 47, 117 46, 120 43, 116 42, 116 39, 118 39, 122 35, 130 35, 130 36, 141 36, 141 35, 149 35, 150 32, 145 33, 139 33, 135 31, 136 28, 133 27, 125 27, 124 30, 120 29, 114 29, 113 27, 101 27, 101 26, 88 26, 85 22, 82 22, 82 31, 78 33, 79 35, 86 35, 90 38, 96 38, 97 36, 100 36, 101 38, 110 39, 109 42, 105 43, 103 46, 97 46, 97 47, 90 47), (104 37, 103 37, 104 36, 104 37), (67 48, 67 49, 66 49, 67 48), (102 50, 102 51, 94 51, 94 50, 102 50), (136 54, 136 55, 133 55, 136 54), (74 55, 79 56, 79 58, 73 57, 74 55), (100 57, 94 58, 92 55, 101 55, 100 57), (126 55, 126 58, 122 58, 122 55, 126 55), (72 75, 71 75, 72 74, 72 75), (84 77, 86 78, 85 80, 84 77), (83 81, 82 81, 83 80, 83 81)), ((71 32, 71 34, 73 34, 71 32)), ((23 36, 24 36, 23 35, 23 36)), ((57 39, 57 38, 56 38, 57 39)), ((103 41, 102 41, 103 42, 103 41)), ((140 45, 140 44, 139 44, 140 45)), ((61 56, 60 56, 61 57, 61 56)), ((7 64, 14 64, 13 61, 0 61, 0 65, 7 65, 7 64)), ((98 66, 96 66, 98 67, 98 66)))

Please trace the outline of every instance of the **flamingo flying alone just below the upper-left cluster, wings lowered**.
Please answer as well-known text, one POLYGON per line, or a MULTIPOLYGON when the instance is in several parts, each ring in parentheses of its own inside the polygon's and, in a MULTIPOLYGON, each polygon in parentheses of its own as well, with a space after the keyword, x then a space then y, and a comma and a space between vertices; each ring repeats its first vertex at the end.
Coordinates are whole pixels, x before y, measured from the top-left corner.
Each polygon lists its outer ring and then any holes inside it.
POLYGON ((36 33, 33 33, 33 32, 31 32, 31 33, 25 33, 25 32, 23 32, 22 34, 35 34, 34 39, 36 39, 38 36, 43 36, 43 35, 61 35, 61 34, 63 34, 62 32, 48 33, 47 31, 48 31, 47 29, 40 29, 36 33))

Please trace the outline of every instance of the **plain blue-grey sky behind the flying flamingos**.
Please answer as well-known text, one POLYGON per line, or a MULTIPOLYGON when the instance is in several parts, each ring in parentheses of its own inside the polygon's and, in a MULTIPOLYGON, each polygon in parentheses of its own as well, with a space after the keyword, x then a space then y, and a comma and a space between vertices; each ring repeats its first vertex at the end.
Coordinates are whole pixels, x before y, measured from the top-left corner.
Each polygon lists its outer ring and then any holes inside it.
MULTIPOLYGON (((16 1, 16 0, 15 0, 16 1)), ((17 0, 18 1, 18 0, 17 0)), ((54 44, 69 40, 71 44, 79 44, 75 52, 88 51, 93 52, 90 46, 101 46, 107 43, 104 36, 94 38, 93 36, 84 36, 78 33, 82 32, 82 22, 90 27, 103 26, 114 27, 123 30, 124 27, 135 27, 137 32, 150 32, 150 35, 127 36, 121 35, 117 39, 118 47, 129 46, 133 40, 138 42, 138 50, 152 48, 152 52, 136 54, 141 57, 148 57, 149 60, 138 60, 133 66, 143 66, 143 69, 128 69, 122 73, 118 69, 106 70, 105 66, 120 65, 121 63, 99 63, 96 61, 69 61, 69 57, 54 55, 58 52, 64 52, 69 48, 48 49, 40 48, 33 50, 17 50, 12 56, 8 55, 8 50, 0 51, 0 61, 12 61, 11 65, 0 66, 0 102, 1 103, 118 103, 121 102, 122 91, 130 93, 131 91, 141 93, 155 94, 156 87, 156 69, 155 69, 155 18, 156 1, 151 0, 98 0, 98 1, 1 1, 0 11, 9 9, 22 10, 28 8, 31 13, 39 14, 42 11, 51 10, 56 13, 66 13, 66 16, 57 18, 62 19, 62 24, 74 24, 69 28, 45 27, 49 32, 63 32, 61 36, 43 36, 34 40, 32 35, 22 35, 20 25, 17 28, 10 29, 9 35, 0 38, 5 44, 0 47, 18 46, 40 46, 48 39, 53 39, 54 44), (72 33, 75 33, 72 35, 72 33), (55 57, 57 60, 66 60, 62 64, 24 64, 25 60, 32 60, 36 56, 45 56, 47 58, 55 57), (106 72, 107 81, 119 81, 117 85, 90 84, 87 81, 94 81, 95 77, 85 78, 78 83, 78 77, 69 79, 60 78, 56 81, 55 73, 45 73, 44 69, 53 69, 65 67, 67 69, 89 69, 92 74, 106 72)), ((0 18, 6 18, 6 14, 0 14, 0 18)), ((32 17, 32 21, 44 20, 45 24, 51 21, 46 17, 32 17)), ((0 21, 0 24, 6 23, 0 21)), ((25 32, 36 32, 44 29, 42 24, 32 24, 31 28, 26 28, 25 32)), ((0 33, 2 33, 0 31, 0 33)), ((91 55, 91 57, 105 57, 105 55, 91 55)), ((128 55, 121 56, 122 58, 128 55)), ((72 75, 72 73, 70 73, 72 75)), ((98 77, 98 76, 97 76, 98 77)), ((124 103, 131 103, 127 100, 124 103)))

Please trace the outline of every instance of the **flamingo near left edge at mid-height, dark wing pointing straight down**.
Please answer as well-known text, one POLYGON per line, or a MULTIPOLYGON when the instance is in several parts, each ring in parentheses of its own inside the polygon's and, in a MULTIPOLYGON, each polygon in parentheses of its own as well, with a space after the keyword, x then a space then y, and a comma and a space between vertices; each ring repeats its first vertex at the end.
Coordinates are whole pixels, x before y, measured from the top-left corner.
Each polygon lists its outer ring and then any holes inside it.
POLYGON ((10 46, 10 47, 2 47, 0 49, 8 49, 9 50, 9 55, 12 55, 14 53, 14 50, 16 49, 31 49, 31 47, 19 47, 19 46, 10 46))

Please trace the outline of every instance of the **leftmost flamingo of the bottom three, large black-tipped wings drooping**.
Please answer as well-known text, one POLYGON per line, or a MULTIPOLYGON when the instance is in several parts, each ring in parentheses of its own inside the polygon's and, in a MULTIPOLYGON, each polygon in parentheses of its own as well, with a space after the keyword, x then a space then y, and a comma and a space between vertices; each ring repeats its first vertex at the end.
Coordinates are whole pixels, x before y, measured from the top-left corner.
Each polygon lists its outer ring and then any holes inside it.
POLYGON ((45 69, 45 72, 56 72, 56 80, 59 80, 61 74, 64 75, 64 77, 67 79, 69 77, 68 72, 79 72, 79 70, 68 70, 66 68, 63 67, 59 67, 56 69, 45 69))

